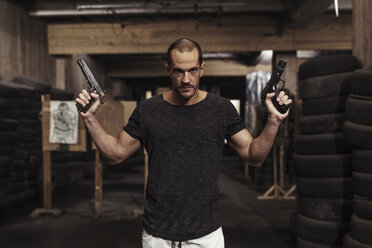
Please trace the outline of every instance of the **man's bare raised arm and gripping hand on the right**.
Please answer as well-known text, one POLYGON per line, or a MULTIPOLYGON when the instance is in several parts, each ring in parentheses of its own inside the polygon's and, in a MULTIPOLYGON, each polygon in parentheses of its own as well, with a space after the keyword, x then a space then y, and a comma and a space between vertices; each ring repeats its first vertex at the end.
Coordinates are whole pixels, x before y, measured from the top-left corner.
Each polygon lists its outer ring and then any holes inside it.
MULTIPOLYGON (((288 116, 288 112, 281 114, 278 112, 271 102, 275 93, 267 94, 265 104, 267 106, 269 116, 260 136, 253 138, 252 135, 243 129, 229 139, 230 146, 240 155, 246 163, 252 166, 259 167, 269 154, 274 143, 276 133, 278 132, 281 122, 288 116)), ((290 104, 291 99, 282 91, 278 97, 279 104, 290 104)))

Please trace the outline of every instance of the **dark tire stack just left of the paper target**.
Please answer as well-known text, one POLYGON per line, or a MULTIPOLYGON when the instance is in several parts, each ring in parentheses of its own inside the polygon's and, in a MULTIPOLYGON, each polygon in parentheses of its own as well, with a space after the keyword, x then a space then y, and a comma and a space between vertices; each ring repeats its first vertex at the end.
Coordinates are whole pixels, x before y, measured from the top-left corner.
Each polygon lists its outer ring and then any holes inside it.
POLYGON ((14 78, 9 84, 20 92, 16 109, 16 144, 9 175, 9 205, 16 206, 35 198, 39 192, 41 94, 49 93, 51 87, 22 77, 14 78))

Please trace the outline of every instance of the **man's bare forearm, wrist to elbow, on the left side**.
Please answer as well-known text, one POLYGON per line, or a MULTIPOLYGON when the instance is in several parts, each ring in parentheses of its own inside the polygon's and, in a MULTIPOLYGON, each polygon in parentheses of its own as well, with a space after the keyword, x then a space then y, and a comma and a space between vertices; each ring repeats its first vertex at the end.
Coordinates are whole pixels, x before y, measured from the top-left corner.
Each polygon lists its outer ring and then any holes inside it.
POLYGON ((95 116, 84 118, 84 122, 92 139, 100 151, 110 164, 116 164, 122 161, 121 154, 118 151, 120 147, 117 138, 109 135, 101 126, 95 116))

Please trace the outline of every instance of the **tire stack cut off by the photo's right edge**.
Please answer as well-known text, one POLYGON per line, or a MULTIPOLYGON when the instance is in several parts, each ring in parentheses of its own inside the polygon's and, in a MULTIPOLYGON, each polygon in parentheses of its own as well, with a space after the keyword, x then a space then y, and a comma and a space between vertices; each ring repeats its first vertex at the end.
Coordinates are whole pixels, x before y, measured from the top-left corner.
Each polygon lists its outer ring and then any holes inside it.
POLYGON ((372 248, 372 70, 354 72, 344 133, 353 146, 354 214, 346 248, 372 248))

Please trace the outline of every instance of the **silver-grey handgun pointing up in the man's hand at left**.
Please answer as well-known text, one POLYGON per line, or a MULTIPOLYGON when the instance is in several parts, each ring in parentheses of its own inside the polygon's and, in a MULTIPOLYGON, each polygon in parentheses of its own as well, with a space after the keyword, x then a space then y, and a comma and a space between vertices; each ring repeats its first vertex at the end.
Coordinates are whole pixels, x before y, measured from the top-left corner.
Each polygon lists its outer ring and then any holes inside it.
MULTIPOLYGON (((102 98, 105 96, 105 93, 101 89, 101 86, 99 86, 96 78, 93 76, 92 71, 89 69, 89 66, 84 58, 81 58, 77 61, 78 65, 80 66, 81 71, 83 72, 86 81, 83 83, 84 89, 88 91, 88 93, 97 93, 99 95, 100 102, 103 103, 102 98), (88 83, 89 87, 86 87, 86 84, 88 83)), ((94 99, 91 98, 89 100, 89 103, 87 105, 81 105, 79 103, 76 103, 76 107, 80 112, 86 113, 89 108, 94 103, 94 99)))

